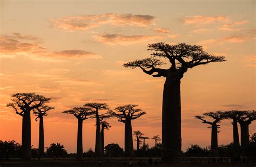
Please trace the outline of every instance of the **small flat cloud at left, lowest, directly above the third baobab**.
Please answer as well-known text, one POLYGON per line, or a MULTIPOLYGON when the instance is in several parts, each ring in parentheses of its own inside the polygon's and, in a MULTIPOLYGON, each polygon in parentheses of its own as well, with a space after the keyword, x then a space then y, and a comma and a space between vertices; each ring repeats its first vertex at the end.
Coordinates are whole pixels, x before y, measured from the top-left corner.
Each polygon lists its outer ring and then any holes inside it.
POLYGON ((102 59, 101 56, 92 53, 86 52, 85 50, 63 50, 60 52, 54 52, 53 56, 63 56, 63 57, 78 57, 78 58, 87 58, 87 59, 102 59))

